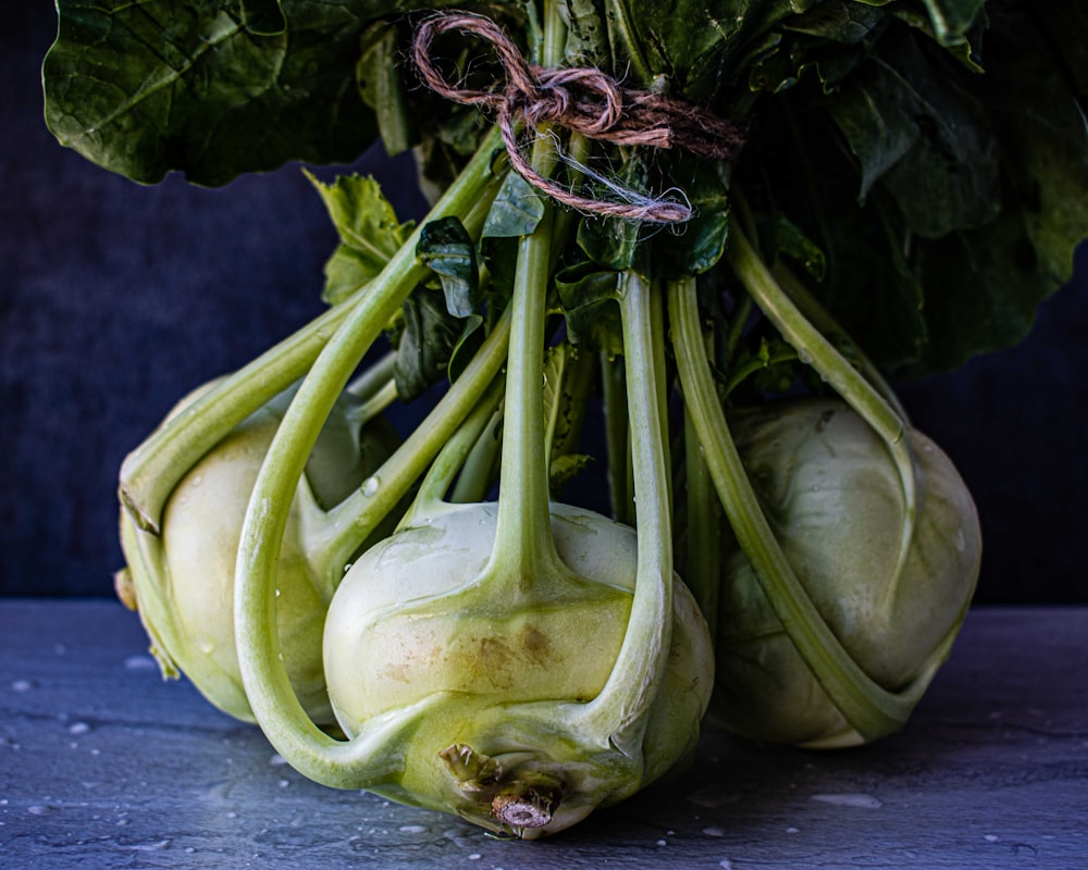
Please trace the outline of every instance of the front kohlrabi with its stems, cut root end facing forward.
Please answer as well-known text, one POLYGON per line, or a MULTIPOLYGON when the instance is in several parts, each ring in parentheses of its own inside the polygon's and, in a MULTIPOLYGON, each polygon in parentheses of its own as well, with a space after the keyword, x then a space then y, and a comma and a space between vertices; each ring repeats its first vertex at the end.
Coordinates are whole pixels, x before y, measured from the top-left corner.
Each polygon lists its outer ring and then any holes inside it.
MULTIPOLYGON (((552 165, 546 140, 534 160, 552 165)), ((518 240, 498 501, 444 502, 456 462, 440 457, 400 529, 355 562, 330 607, 325 671, 347 741, 305 718, 271 630, 272 542, 301 471, 286 448, 274 445, 261 472, 238 559, 243 679, 285 758, 320 782, 523 837, 562 830, 689 760, 713 685, 705 622, 672 570, 664 336, 652 327, 663 296, 635 274, 617 296, 629 377, 647 378, 628 399, 639 534, 551 501, 542 372, 554 216, 545 209, 518 240), (265 543, 256 531, 268 523, 265 543)), ((339 337, 277 442, 289 444, 310 396, 355 364, 339 337)), ((453 390, 469 382, 467 371, 453 390)), ((490 413, 484 403, 474 417, 490 413)))

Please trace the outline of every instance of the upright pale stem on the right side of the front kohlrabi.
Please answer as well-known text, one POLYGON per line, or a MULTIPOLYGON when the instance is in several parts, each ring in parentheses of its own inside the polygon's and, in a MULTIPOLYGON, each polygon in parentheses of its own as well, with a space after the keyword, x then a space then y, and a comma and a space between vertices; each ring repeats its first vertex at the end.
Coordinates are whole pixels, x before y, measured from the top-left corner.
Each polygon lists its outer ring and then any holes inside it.
POLYGON ((638 511, 638 571, 631 616, 616 663, 601 693, 585 705, 581 728, 638 758, 647 712, 657 697, 672 635, 672 518, 664 438, 665 334, 656 285, 634 272, 620 293, 628 381, 631 458, 638 511), (656 309, 656 311, 655 311, 656 309))

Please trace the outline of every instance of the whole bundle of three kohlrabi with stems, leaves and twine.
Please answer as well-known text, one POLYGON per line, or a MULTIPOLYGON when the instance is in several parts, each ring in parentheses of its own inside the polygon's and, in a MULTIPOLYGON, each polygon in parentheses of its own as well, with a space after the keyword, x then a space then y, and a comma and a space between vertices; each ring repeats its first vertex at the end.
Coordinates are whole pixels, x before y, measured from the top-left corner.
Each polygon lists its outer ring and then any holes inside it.
POLYGON ((1088 13, 444 5, 58 1, 47 120, 102 166, 220 185, 380 139, 433 203, 314 179, 327 311, 126 459, 119 591, 164 672, 319 782, 518 836, 680 770, 707 710, 895 731, 980 539, 887 378, 1068 279, 1088 13), (431 402, 403 439, 393 402, 431 402), (611 517, 560 500, 594 475, 611 517))

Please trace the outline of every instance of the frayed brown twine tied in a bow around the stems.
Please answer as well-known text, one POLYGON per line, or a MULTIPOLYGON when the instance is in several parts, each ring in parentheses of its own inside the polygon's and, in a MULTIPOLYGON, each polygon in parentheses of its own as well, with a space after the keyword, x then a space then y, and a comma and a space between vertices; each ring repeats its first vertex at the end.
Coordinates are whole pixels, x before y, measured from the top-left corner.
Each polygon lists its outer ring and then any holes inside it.
MULTIPOLYGON (((490 18, 471 13, 440 13, 416 32, 416 65, 435 92, 466 105, 483 105, 496 123, 515 171, 553 199, 591 214, 652 223, 682 223, 692 216, 687 202, 647 197, 607 183, 627 202, 582 197, 545 177, 530 164, 518 142, 519 120, 530 127, 553 124, 614 145, 682 148, 698 157, 728 160, 743 145, 734 124, 698 107, 659 94, 622 87, 593 67, 551 70, 530 64, 517 45, 490 18), (450 84, 435 67, 430 49, 435 37, 458 29, 487 40, 506 73, 502 90, 474 90, 450 84)), ((592 174, 592 173, 591 173, 592 174)))

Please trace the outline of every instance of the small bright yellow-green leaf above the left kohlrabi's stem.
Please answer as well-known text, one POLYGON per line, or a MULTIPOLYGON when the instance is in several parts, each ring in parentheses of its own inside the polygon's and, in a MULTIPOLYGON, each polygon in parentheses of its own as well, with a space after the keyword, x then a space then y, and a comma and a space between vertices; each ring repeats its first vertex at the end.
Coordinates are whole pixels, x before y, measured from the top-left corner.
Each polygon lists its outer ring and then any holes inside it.
POLYGON ((323 298, 335 304, 354 294, 379 272, 411 234, 412 222, 400 223, 374 178, 339 176, 324 184, 304 170, 325 203, 341 238, 325 263, 323 298))

